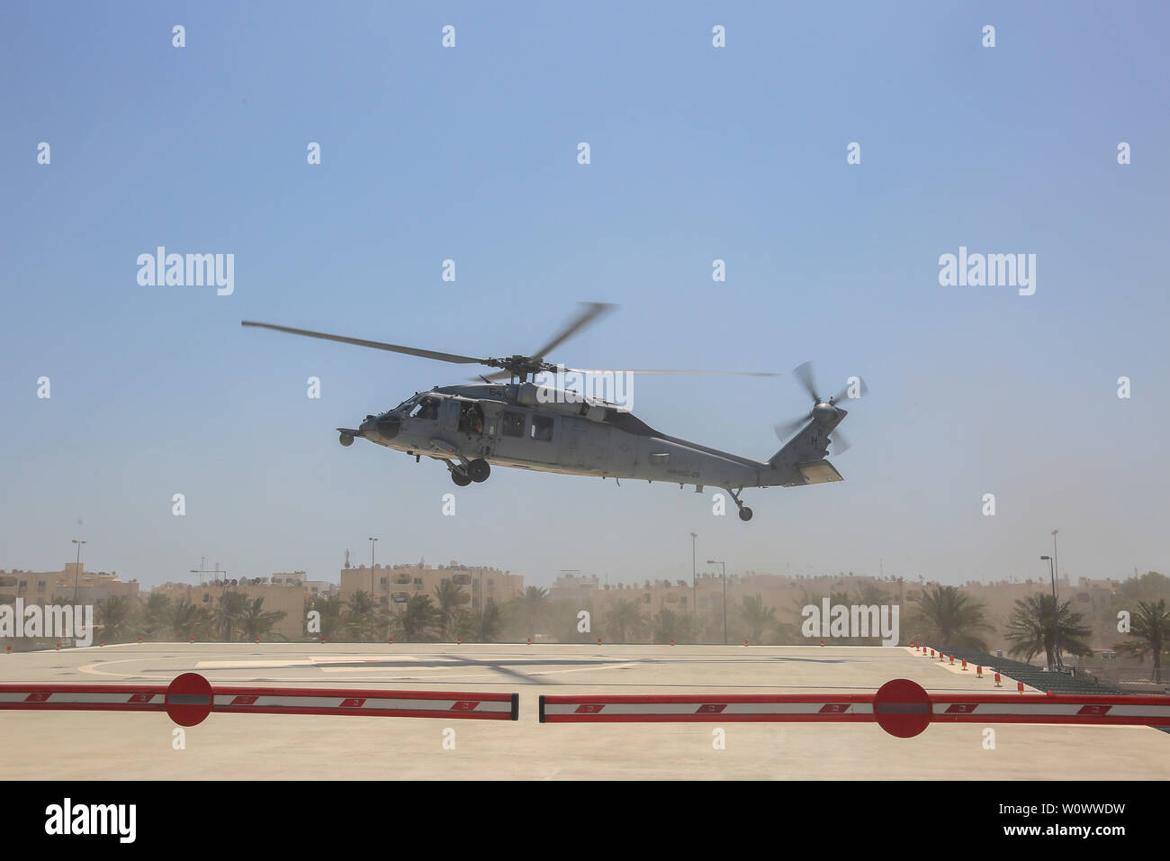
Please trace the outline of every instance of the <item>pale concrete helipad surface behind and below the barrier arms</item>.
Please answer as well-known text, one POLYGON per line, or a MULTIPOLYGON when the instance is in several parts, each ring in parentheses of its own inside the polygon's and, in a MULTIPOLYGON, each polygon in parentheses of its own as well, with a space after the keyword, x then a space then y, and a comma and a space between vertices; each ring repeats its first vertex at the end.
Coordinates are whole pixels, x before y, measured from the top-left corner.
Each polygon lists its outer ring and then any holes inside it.
MULTIPOLYGON (((1143 726, 539 724, 541 693, 931 692, 992 681, 904 648, 147 643, 0 655, 0 682, 516 691, 518 722, 213 713, 173 746, 161 713, 0 711, 8 779, 1170 779, 1170 734, 1143 726), (443 747, 455 731, 454 750, 443 747), (713 732, 725 732, 725 750, 713 732), (448 739, 449 733, 446 736, 448 739)), ((1006 682, 1004 696, 1014 696, 1006 682)), ((449 742, 448 742, 449 744, 449 742)))

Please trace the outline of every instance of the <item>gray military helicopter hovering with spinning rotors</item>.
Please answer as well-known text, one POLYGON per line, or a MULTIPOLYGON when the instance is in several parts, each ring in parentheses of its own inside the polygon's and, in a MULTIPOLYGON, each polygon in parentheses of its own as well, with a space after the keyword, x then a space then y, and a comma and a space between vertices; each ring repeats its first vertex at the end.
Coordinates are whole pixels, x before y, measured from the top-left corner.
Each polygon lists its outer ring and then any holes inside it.
MULTIPOLYGON (((530 376, 558 370, 779 376, 737 371, 577 370, 544 361, 548 353, 612 307, 603 302, 584 303, 580 312, 534 355, 503 358, 476 358, 249 320, 241 324, 441 362, 498 368, 494 374, 475 377, 480 382, 436 385, 429 391, 415 392, 392 410, 366 416, 357 428, 337 429, 342 445, 352 445, 362 437, 413 455, 415 462, 422 457, 442 460, 460 487, 486 481, 493 465, 570 476, 670 481, 680 487, 694 485, 696 493, 702 493, 704 486, 723 488, 739 508, 739 518, 751 520, 751 508, 739 499, 745 487, 793 487, 841 480, 840 473, 825 458, 830 433, 847 415, 837 402, 866 394, 865 383, 858 377, 851 378, 852 385, 839 395, 826 398, 818 394, 811 365, 805 363, 797 368, 796 376, 812 397, 812 410, 789 424, 776 425, 780 439, 793 431, 797 433, 764 462, 661 433, 618 404, 529 381, 530 376)), ((834 453, 840 453, 846 445, 840 433, 835 433, 835 438, 841 445, 834 445, 834 453)))

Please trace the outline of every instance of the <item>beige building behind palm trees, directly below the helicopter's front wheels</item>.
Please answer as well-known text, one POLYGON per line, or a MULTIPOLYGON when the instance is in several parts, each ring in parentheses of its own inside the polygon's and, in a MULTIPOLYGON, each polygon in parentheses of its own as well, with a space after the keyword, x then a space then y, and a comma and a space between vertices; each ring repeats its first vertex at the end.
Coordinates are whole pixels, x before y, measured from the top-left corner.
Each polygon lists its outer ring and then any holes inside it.
POLYGON ((390 609, 400 607, 413 595, 429 595, 434 601, 435 588, 448 580, 468 594, 470 601, 467 607, 472 611, 477 611, 487 602, 502 604, 524 590, 524 578, 521 574, 452 561, 446 566, 419 562, 343 568, 340 595, 343 601, 349 601, 357 592, 372 590, 378 606, 390 609))

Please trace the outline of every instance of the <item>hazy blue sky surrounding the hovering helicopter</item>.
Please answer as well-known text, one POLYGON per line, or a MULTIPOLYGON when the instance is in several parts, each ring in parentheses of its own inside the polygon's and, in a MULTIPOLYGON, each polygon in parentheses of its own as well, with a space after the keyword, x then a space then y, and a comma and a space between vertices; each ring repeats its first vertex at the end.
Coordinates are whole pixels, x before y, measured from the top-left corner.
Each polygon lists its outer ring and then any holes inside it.
MULTIPOLYGON (((201 556, 336 579, 376 535, 379 561, 677 579, 697 532, 700 570, 957 583, 1046 575, 1059 528, 1073 578, 1170 570, 1168 25, 1064 1, 6 2, 0 568, 83 538, 87 567, 144 583, 201 556), (234 293, 139 286, 160 245, 234 254, 234 293), (1034 254, 1034 295, 941 286, 961 246, 1034 254), (744 524, 693 488, 497 469, 442 517, 441 464, 333 429, 466 368, 240 327, 505 355, 583 300, 621 308, 552 361, 863 375, 846 480, 748 490, 744 524)), ((634 389, 653 426, 760 459, 808 405, 790 374, 634 389)))

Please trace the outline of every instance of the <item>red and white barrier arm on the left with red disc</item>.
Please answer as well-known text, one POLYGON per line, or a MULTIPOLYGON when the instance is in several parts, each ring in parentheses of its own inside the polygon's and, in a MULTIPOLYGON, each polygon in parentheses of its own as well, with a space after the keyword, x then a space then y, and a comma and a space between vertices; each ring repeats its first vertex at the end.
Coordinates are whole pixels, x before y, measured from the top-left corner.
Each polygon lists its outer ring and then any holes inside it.
POLYGON ((186 672, 170 685, 0 684, 0 710, 165 711, 194 726, 208 713, 356 715, 517 720, 518 693, 387 691, 352 688, 213 688, 186 672))

